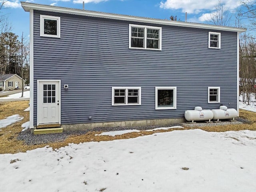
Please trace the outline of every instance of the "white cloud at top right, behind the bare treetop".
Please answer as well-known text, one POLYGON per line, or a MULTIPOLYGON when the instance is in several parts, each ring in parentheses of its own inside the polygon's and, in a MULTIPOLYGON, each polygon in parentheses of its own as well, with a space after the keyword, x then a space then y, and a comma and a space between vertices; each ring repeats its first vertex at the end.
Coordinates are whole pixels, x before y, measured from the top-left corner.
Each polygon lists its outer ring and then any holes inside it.
MULTIPOLYGON (((234 10, 240 6, 239 0, 222 0, 222 3, 226 5, 229 10, 234 10)), ((160 8, 164 9, 181 9, 182 12, 190 14, 198 14, 203 10, 215 10, 218 5, 218 0, 165 0, 160 2, 160 8)))

